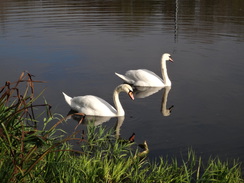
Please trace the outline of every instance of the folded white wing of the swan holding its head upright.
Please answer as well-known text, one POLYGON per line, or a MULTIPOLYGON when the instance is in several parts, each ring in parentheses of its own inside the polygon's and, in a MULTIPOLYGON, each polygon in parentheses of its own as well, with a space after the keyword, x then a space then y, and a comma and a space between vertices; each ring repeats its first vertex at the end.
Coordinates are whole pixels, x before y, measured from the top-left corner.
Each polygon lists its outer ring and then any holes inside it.
POLYGON ((129 70, 125 75, 134 81, 135 86, 164 86, 163 80, 147 69, 129 70))

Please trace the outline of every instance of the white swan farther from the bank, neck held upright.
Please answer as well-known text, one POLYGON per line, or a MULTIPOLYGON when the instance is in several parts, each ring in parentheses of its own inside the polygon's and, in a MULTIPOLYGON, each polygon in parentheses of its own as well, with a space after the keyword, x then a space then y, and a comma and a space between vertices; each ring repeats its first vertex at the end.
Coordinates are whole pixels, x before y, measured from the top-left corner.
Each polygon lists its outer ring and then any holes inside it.
POLYGON ((115 73, 126 83, 134 86, 148 86, 148 87, 164 87, 171 86, 171 81, 168 77, 166 61, 173 62, 170 54, 164 53, 161 59, 161 69, 163 80, 154 72, 147 69, 129 70, 125 75, 115 73))

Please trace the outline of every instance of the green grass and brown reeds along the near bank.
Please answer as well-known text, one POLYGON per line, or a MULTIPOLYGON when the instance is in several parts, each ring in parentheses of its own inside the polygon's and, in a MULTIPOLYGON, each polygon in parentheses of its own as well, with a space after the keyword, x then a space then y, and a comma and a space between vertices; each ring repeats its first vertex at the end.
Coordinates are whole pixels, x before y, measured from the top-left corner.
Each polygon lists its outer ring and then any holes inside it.
POLYGON ((181 162, 163 157, 150 161, 146 142, 141 149, 92 123, 79 138, 78 131, 67 135, 58 129, 63 117, 51 114, 45 101, 34 104, 39 97, 34 96, 34 84, 41 81, 32 78, 22 73, 17 82, 0 88, 1 182, 244 182, 237 161, 202 162, 193 150, 181 162), (47 129, 50 122, 54 125, 47 129), (57 135, 60 131, 62 135, 57 135), (76 140, 80 149, 74 150, 70 140, 76 140))

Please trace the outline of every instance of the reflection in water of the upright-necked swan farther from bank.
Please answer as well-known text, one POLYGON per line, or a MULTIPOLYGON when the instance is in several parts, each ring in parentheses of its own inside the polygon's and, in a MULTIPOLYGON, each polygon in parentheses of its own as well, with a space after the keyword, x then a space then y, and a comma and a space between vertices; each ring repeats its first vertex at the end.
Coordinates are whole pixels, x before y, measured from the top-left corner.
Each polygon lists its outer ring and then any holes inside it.
POLYGON ((168 95, 171 90, 171 86, 165 87, 143 87, 143 86, 133 86, 133 94, 135 98, 146 98, 149 97, 160 90, 164 89, 161 103, 161 113, 163 116, 169 116, 172 112, 173 105, 167 108, 168 95))

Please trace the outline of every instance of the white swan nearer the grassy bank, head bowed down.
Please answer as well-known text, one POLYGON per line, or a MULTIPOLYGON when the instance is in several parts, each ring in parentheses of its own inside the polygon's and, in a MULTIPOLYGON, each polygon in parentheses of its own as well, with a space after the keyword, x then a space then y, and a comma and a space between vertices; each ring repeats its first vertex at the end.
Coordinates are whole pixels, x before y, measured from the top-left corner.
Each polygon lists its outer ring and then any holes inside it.
POLYGON ((122 91, 128 93, 130 98, 134 100, 132 87, 128 84, 119 85, 115 88, 113 93, 113 100, 116 109, 105 100, 93 95, 78 96, 74 98, 69 97, 64 92, 63 95, 71 109, 82 112, 86 115, 124 116, 125 111, 119 100, 119 93, 122 91))

